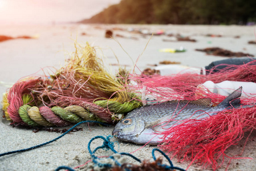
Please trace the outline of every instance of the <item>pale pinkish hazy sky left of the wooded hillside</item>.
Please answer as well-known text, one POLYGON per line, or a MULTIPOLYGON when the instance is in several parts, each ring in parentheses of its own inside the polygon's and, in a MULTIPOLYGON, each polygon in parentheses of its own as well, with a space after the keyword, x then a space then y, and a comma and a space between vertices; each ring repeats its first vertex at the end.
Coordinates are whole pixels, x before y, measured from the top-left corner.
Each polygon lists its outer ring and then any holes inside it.
POLYGON ((120 0, 0 0, 0 25, 77 22, 120 0))

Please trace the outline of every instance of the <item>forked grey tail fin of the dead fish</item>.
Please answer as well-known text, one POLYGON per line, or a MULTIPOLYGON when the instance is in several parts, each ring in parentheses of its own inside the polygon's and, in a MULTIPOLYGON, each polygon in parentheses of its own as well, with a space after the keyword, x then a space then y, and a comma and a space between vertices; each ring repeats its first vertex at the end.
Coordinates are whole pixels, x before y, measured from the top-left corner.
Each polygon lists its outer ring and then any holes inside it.
POLYGON ((241 97, 242 95, 242 87, 239 87, 236 89, 231 95, 227 96, 226 99, 224 99, 220 104, 218 104, 218 107, 229 107, 230 103, 231 105, 237 105, 240 103, 240 99, 237 99, 241 97))

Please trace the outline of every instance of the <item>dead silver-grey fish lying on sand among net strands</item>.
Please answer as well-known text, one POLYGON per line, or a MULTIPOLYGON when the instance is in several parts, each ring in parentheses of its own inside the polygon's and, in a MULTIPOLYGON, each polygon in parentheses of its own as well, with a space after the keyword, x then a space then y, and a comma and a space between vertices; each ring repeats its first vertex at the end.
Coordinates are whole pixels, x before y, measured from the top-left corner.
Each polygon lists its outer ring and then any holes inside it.
POLYGON ((242 87, 227 96, 216 107, 210 107, 210 99, 195 101, 168 101, 156 105, 147 105, 129 112, 123 120, 116 124, 112 135, 117 139, 135 144, 161 143, 162 135, 156 132, 164 131, 173 125, 179 124, 184 119, 203 119, 216 115, 226 109, 241 107, 240 100, 242 87), (166 124, 166 121, 169 121, 166 124), (163 123, 165 122, 165 123, 163 123), (162 127, 165 124, 164 127, 162 127))

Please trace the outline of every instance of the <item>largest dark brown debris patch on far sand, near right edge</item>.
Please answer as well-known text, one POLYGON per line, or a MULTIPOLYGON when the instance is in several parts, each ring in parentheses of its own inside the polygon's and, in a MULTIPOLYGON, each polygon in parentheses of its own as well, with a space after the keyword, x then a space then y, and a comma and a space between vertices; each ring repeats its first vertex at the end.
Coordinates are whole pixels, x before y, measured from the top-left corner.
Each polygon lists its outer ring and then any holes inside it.
POLYGON ((225 56, 225 57, 244 57, 244 56, 251 56, 253 57, 254 55, 251 54, 245 54, 243 52, 232 52, 229 50, 225 50, 223 48, 219 47, 209 47, 209 48, 204 48, 204 49, 196 49, 196 51, 202 51, 206 52, 208 55, 215 55, 215 56, 225 56))

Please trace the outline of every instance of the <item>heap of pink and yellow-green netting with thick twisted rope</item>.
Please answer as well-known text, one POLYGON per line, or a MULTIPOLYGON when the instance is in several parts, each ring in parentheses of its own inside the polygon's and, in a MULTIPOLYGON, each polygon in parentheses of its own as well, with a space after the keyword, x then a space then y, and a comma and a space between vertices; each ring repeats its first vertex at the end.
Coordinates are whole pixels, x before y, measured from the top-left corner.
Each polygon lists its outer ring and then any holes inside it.
POLYGON ((96 50, 75 44, 66 66, 51 75, 18 80, 3 96, 3 113, 13 124, 63 127, 83 120, 113 123, 141 106, 139 98, 109 74, 96 50))

